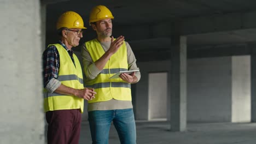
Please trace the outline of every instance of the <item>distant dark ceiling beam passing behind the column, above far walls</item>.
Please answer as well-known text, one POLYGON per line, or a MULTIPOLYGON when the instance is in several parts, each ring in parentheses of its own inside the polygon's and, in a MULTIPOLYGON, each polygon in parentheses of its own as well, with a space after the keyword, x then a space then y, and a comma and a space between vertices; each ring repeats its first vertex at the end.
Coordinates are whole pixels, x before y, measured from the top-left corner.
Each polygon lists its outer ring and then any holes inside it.
MULTIPOLYGON (((205 58, 205 57, 228 57, 228 56, 244 56, 251 55, 252 50, 256 49, 256 44, 229 44, 229 45, 193 45, 188 46, 187 58, 205 58)), ((170 49, 165 50, 149 50, 136 51, 137 62, 148 61, 167 61, 171 59, 170 49)))

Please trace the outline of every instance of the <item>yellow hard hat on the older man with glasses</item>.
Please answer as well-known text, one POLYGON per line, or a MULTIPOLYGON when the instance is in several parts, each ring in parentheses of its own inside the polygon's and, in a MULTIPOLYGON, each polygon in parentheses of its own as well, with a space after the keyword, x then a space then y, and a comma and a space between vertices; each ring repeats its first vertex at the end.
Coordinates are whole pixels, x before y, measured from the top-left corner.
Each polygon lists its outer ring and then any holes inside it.
POLYGON ((59 17, 56 28, 60 29, 62 27, 86 29, 82 17, 74 11, 66 11, 59 17))

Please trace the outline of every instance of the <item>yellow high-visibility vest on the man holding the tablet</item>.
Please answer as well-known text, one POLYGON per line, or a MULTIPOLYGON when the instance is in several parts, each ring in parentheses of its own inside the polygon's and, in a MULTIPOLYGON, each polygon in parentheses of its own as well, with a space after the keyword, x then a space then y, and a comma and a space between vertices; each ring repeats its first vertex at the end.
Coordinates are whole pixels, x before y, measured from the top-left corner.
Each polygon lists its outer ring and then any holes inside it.
MULTIPOLYGON (((96 62, 102 55, 104 50, 97 39, 93 39, 85 43, 93 62, 96 62)), ((107 101, 110 99, 129 100, 131 101, 131 84, 122 79, 109 79, 119 71, 128 70, 127 48, 125 43, 114 53, 106 63, 100 74, 93 80, 86 79, 86 87, 95 89, 95 99, 89 100, 88 103, 99 101, 107 101)))

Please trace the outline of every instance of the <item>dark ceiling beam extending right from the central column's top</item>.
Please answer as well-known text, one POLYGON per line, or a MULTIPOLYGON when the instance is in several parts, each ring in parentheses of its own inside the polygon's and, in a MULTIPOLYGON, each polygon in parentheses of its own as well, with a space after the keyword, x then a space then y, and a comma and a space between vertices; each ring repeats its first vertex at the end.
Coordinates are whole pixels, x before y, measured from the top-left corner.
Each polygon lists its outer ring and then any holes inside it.
POLYGON ((256 28, 256 11, 190 17, 182 20, 182 35, 256 28))

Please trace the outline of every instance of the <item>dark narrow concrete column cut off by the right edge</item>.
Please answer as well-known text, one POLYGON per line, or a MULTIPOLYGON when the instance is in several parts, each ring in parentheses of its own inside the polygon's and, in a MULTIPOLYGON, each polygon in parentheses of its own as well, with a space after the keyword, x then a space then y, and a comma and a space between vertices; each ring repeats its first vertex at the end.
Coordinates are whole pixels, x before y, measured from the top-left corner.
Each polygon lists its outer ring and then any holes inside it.
POLYGON ((256 122, 256 45, 251 44, 251 122, 256 122))

